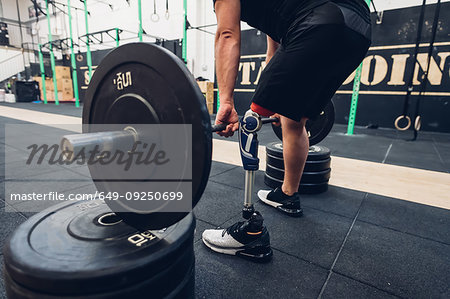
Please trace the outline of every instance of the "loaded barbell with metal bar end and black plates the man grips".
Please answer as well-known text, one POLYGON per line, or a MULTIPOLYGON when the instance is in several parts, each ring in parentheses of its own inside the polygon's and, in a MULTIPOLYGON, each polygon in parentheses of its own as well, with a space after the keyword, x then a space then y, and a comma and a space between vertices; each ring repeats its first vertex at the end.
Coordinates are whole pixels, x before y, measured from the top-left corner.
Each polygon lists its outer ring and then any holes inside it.
MULTIPOLYGON (((309 126, 310 140, 313 141, 311 145, 326 137, 332 127, 330 120, 334 120, 333 106, 317 120, 310 122, 313 123, 309 126)), ((263 123, 274 121, 277 119, 263 119, 263 123)), ((212 132, 222 131, 226 127, 226 124, 211 125, 205 98, 183 62, 168 50, 147 43, 120 46, 103 59, 86 91, 82 122, 82 134, 67 135, 61 141, 62 150, 72 153, 72 157, 76 156, 75 152, 96 145, 108 145, 110 149, 129 147, 142 138, 142 130, 136 129, 139 125, 189 125, 192 132, 192 173, 187 180, 154 179, 151 173, 140 179, 129 179, 126 177, 128 174, 122 172, 110 173, 105 179, 102 175, 105 172, 103 165, 93 163, 88 164, 88 167, 98 191, 105 194, 148 190, 164 182, 174 181, 179 183, 174 185, 178 188, 183 181, 187 181, 192 184, 190 209, 200 200, 209 178, 212 132), (112 131, 98 129, 99 125, 118 124, 123 124, 123 128, 119 126, 118 130, 112 131)), ((281 132, 275 129, 281 138, 281 132)), ((150 135, 161 137, 158 132, 150 135)), ((70 158, 70 155, 66 157, 70 158)), ((168 227, 189 213, 161 212, 159 208, 136 210, 126 199, 106 200, 106 203, 126 223, 138 229, 168 227)), ((167 204, 171 203, 161 203, 167 204)))

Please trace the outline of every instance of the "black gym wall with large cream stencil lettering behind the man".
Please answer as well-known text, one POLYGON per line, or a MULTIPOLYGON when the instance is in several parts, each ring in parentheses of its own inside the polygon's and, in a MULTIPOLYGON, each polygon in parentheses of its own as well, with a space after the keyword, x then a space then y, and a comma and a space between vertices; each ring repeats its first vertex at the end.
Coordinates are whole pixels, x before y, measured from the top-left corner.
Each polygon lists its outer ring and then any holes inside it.
MULTIPOLYGON (((431 39, 435 4, 427 5, 422 43, 431 39)), ((417 35, 420 6, 384 11, 381 24, 376 24, 372 13, 373 41, 363 62, 361 92, 356 125, 376 124, 393 128, 394 120, 402 114, 406 81, 415 70, 414 91, 419 91, 419 80, 426 69, 428 47, 420 47, 414 65, 412 56, 417 35)), ((450 3, 441 7, 440 23, 431 61, 428 88, 422 98, 420 115, 422 128, 427 131, 450 132, 450 3)), ((239 114, 249 107, 259 76, 265 66, 266 37, 259 31, 243 31, 242 57, 235 89, 239 114)), ((307 71, 307 70, 299 70, 307 71)), ((353 88, 352 74, 334 97, 336 123, 346 124, 353 88)), ((302 91, 298 91, 301 97, 302 91)), ((417 96, 411 97, 409 114, 414 113, 417 96)))

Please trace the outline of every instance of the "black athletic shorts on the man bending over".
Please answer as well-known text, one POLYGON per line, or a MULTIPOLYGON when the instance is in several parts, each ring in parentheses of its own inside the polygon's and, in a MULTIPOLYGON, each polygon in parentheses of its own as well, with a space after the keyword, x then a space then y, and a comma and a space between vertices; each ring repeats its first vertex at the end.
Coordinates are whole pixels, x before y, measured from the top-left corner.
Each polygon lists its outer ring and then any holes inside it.
POLYGON ((253 102, 292 120, 314 119, 364 59, 370 23, 328 2, 292 23, 264 69, 253 102))

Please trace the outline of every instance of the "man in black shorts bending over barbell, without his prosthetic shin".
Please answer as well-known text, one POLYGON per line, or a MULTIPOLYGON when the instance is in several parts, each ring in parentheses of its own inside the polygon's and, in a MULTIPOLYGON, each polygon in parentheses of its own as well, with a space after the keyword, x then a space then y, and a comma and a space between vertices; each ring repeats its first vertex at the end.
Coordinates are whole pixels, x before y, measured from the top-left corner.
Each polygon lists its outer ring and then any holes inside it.
MULTIPOLYGON (((232 136, 239 128, 233 90, 242 20, 267 34, 267 66, 251 110, 280 118, 283 128, 283 185, 272 191, 261 190, 258 196, 285 214, 301 216, 297 190, 309 149, 305 123, 320 114, 364 58, 371 42, 369 9, 364 0, 213 1, 218 23, 215 56, 220 91, 216 124, 228 124, 219 135, 232 136)), ((203 241, 215 251, 243 256, 258 252, 257 247, 269 246, 258 213, 223 231, 206 230, 203 241)))

